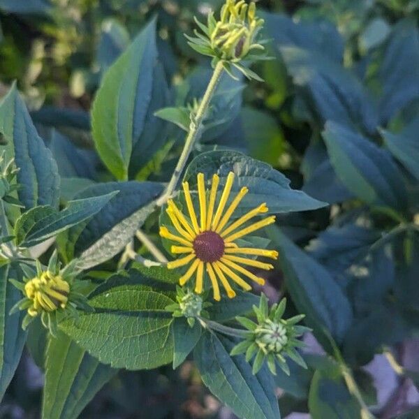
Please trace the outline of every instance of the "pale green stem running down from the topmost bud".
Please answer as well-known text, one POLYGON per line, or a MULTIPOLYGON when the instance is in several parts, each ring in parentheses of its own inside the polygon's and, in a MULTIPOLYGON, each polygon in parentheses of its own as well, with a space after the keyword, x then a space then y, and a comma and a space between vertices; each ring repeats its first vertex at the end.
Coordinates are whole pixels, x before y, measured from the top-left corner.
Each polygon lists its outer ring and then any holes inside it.
POLYGON ((179 161, 177 162, 172 178, 170 179, 168 186, 166 186, 166 191, 156 201, 156 204, 160 207, 161 205, 166 203, 166 201, 172 196, 173 192, 175 191, 177 182, 179 182, 179 178, 182 175, 182 172, 186 166, 186 162, 189 159, 189 154, 191 154, 191 151, 193 149, 193 145, 202 133, 201 131, 203 119, 210 105, 212 96, 214 96, 215 89, 217 87, 217 84, 219 83, 222 73, 223 61, 219 61, 214 68, 214 73, 212 73, 211 80, 208 83, 207 90, 205 91, 205 94, 198 107, 198 110, 196 111, 196 115, 193 116, 193 119, 191 118, 189 133, 188 135, 186 135, 184 148, 182 150, 182 154, 179 157, 179 161))

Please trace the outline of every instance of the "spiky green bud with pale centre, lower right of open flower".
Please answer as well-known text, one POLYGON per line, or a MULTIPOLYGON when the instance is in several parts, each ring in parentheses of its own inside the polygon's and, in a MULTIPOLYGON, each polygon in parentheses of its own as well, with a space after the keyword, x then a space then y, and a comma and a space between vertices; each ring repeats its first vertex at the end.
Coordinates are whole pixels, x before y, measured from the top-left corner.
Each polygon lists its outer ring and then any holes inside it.
POLYGON ((287 320, 282 318, 285 308, 285 298, 279 304, 273 304, 269 309, 267 297, 261 295, 259 307, 253 306, 258 323, 254 323, 246 317, 237 317, 237 321, 249 332, 247 339, 237 344, 231 351, 231 355, 246 353, 247 362, 254 356, 253 374, 257 374, 266 361, 272 374, 277 374, 276 365, 279 365, 289 375, 290 370, 286 363, 286 356, 297 362, 298 365, 307 368, 300 353, 297 352, 297 348, 304 346, 298 337, 310 329, 297 325, 304 318, 304 314, 287 320))

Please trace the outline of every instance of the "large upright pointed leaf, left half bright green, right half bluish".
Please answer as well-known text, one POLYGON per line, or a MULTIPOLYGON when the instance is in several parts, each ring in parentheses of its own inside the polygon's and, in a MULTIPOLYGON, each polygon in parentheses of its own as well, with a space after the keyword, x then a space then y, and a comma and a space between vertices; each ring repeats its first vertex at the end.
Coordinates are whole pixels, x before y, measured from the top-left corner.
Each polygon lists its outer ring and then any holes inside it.
POLYGON ((159 119, 153 114, 167 105, 168 90, 157 55, 156 21, 152 20, 110 66, 96 94, 94 142, 103 163, 119 180, 128 179, 135 145, 144 152, 158 138, 153 124, 159 124, 159 119))

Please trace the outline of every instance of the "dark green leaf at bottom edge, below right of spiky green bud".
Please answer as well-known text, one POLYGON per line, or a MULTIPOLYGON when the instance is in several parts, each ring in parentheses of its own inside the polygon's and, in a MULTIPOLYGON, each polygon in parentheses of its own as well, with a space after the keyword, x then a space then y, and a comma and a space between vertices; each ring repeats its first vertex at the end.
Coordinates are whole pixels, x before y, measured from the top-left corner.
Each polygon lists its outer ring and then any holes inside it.
POLYGON ((311 380, 309 411, 313 419, 361 419, 360 405, 346 388, 339 367, 318 369, 311 380))

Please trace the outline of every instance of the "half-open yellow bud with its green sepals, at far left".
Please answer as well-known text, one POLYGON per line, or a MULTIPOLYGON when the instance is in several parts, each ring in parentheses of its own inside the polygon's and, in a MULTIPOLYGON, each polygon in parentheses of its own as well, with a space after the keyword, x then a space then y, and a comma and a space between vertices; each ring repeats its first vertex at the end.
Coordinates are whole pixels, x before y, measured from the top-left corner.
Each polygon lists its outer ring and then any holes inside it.
POLYGON ((60 270, 57 252, 50 258, 47 270, 36 263, 36 272, 31 265, 22 265, 26 278, 24 282, 9 279, 22 293, 24 298, 10 310, 10 314, 18 310, 27 310, 22 322, 26 329, 34 318, 41 316, 45 328, 56 335, 58 320, 68 316, 77 317, 77 309, 92 311, 87 298, 82 293, 84 284, 75 281, 79 273, 75 262, 60 270))

